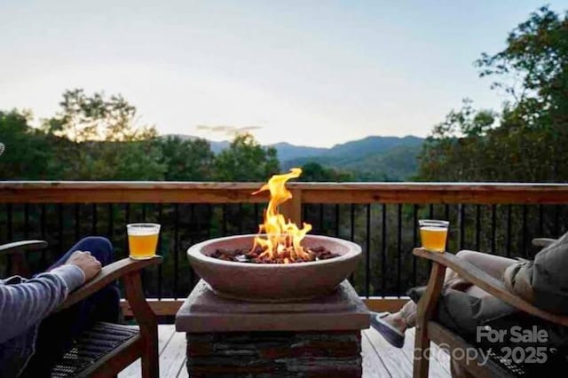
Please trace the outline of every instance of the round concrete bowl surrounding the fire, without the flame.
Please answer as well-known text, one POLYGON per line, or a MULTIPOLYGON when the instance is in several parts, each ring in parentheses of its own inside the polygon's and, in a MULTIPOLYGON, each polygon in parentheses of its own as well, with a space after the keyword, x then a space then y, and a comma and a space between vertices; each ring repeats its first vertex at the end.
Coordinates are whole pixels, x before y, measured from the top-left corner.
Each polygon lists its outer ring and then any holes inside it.
POLYGON ((327 295, 357 266, 359 245, 327 236, 307 235, 305 248, 324 247, 340 255, 291 264, 251 264, 209 257, 218 248, 251 248, 256 235, 203 241, 187 249, 193 270, 218 294, 248 302, 289 302, 327 295))

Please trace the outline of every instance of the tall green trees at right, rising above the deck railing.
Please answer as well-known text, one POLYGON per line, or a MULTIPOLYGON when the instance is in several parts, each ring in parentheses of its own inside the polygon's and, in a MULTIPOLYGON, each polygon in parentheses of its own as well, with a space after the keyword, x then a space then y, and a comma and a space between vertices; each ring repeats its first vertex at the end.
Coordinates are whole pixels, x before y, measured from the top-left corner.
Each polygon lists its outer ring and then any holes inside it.
POLYGON ((567 181, 568 13, 540 8, 477 66, 509 100, 500 114, 469 100, 450 112, 422 148, 420 179, 567 181))

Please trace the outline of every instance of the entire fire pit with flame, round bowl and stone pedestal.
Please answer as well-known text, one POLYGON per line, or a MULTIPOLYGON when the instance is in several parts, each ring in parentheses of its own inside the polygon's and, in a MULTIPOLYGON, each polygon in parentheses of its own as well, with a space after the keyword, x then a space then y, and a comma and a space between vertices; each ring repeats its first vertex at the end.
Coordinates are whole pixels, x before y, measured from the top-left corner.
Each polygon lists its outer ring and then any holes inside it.
POLYGON ((257 235, 207 240, 187 250, 201 276, 176 316, 192 377, 360 377, 360 330, 369 312, 345 280, 361 248, 306 235, 279 214, 301 169, 272 177, 257 235))

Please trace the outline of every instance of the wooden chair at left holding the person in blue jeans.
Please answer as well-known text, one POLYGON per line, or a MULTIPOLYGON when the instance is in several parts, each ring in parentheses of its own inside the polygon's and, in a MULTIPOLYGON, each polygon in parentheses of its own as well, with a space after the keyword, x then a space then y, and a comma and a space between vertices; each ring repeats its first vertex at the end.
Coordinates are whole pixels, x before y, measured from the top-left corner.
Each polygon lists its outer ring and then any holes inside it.
MULTIPOLYGON (((0 256, 7 255, 11 260, 11 273, 20 272, 25 276, 29 271, 24 252, 46 247, 47 242, 43 240, 16 241, 1 245, 0 256)), ((159 376, 157 321, 154 311, 146 303, 140 271, 161 263, 159 256, 148 260, 124 258, 106 265, 97 277, 67 296, 56 311, 67 309, 114 280, 122 279, 138 327, 95 323, 55 366, 52 377, 113 377, 138 358, 142 358, 144 378, 159 376)))

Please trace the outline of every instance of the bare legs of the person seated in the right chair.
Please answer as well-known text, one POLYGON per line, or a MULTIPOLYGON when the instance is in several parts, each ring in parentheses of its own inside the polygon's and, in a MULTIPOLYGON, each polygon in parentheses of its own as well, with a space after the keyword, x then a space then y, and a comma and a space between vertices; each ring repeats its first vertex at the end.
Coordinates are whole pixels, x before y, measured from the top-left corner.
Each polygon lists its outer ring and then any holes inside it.
MULTIPOLYGON (((517 260, 511 258, 488 255, 474 251, 460 251, 456 254, 456 256, 468 261, 470 264, 476 265, 477 268, 487 272, 497 279, 501 279, 501 275, 505 272, 505 269, 507 269, 509 265, 517 263, 517 260)), ((490 295, 480 287, 473 286, 468 281, 461 279, 460 276, 450 269, 446 270, 444 287, 462 290, 469 295, 477 297, 490 295)), ((404 335, 407 328, 414 327, 416 324, 416 308, 416 303, 408 301, 400 309, 400 311, 388 314, 380 319, 375 319, 375 327, 379 330, 379 328, 385 326, 387 327, 387 332, 389 332, 388 328, 391 327, 394 328, 399 335, 404 335), (386 323, 386 325, 384 323, 386 323)), ((384 329, 385 328, 382 327, 382 330, 384 329)))

